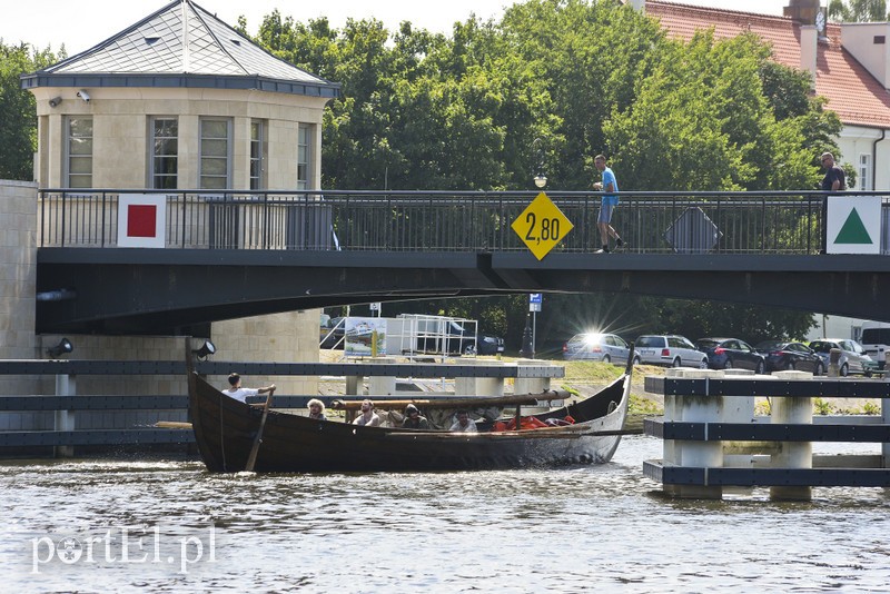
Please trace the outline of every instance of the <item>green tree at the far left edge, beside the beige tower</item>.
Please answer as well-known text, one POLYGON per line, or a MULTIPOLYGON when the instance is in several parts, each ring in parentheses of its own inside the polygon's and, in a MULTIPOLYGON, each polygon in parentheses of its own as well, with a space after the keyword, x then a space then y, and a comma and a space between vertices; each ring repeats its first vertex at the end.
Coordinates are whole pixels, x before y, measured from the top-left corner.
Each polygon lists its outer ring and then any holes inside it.
POLYGON ((19 77, 55 61, 49 49, 36 51, 27 43, 6 46, 0 40, 0 178, 33 179, 37 113, 34 98, 21 88, 19 77))

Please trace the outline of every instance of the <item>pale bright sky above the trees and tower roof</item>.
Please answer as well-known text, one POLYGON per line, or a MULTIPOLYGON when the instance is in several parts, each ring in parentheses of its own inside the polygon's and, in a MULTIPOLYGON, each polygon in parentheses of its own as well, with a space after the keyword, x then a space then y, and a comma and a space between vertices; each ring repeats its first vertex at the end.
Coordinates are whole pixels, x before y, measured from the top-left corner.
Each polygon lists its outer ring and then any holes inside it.
MULTIPOLYGON (((51 46, 58 51, 62 43, 73 56, 105 41, 145 17, 168 4, 167 0, 4 0, 0 16, 0 40, 7 46, 21 41, 38 49, 51 46)), ((672 0, 681 3, 781 14, 789 0, 672 0)), ((512 0, 330 0, 298 2, 295 0, 197 0, 197 4, 235 27, 238 17, 247 19, 247 31, 256 33, 264 17, 276 8, 281 17, 295 21, 327 17, 334 28, 346 19, 374 17, 394 31, 402 21, 434 32, 452 32, 452 24, 466 20, 471 13, 487 20, 500 19, 512 0)))

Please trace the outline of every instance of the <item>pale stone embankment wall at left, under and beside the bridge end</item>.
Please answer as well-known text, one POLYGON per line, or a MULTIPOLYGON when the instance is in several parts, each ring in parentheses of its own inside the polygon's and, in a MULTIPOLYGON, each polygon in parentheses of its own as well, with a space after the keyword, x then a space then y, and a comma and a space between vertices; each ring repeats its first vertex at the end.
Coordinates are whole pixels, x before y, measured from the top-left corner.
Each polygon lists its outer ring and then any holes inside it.
MULTIPOLYGON (((185 337, 36 335, 37 184, 0 180, 0 358, 41 359, 65 337, 78 359, 177 360, 185 356, 185 337)), ((200 338, 196 337, 198 346, 200 338)), ((219 321, 211 326, 218 360, 318 362, 318 310, 219 321)), ((236 370, 236 369, 233 369, 236 370)), ((211 380, 225 386, 225 377, 211 380)), ((245 385, 275 382, 279 394, 314 395, 317 378, 247 377, 245 385)), ((79 376, 77 394, 168 395, 187 392, 178 376, 79 376)), ((55 377, 0 376, 0 395, 51 395, 55 377)), ((78 413, 78 428, 123 428, 154 420, 184 420, 169 412, 78 413)), ((52 413, 0 413, 0 430, 51 429, 52 413)))

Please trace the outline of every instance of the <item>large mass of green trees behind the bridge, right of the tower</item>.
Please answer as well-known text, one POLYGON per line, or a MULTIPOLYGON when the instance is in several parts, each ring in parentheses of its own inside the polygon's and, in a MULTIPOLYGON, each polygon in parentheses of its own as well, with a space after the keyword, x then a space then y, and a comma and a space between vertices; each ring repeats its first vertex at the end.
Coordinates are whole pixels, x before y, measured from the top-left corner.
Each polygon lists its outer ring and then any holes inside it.
MULTIPOLYGON (((770 61, 753 36, 671 41, 617 0, 528 0, 498 21, 469 18, 451 37, 376 20, 266 17, 257 41, 342 83, 325 110, 323 187, 587 190, 606 154, 624 190, 811 189, 841 129, 809 75, 770 61), (540 140, 536 140, 540 139, 540 140)), ((789 216, 793 216, 789 214, 789 216)), ((812 221, 774 234, 799 245, 812 221)), ((479 320, 517 350, 527 297, 398 304, 395 313, 479 320)), ((812 316, 735 304, 626 295, 548 295, 536 348, 595 327, 626 338, 676 331, 749 341, 802 336, 812 316)))

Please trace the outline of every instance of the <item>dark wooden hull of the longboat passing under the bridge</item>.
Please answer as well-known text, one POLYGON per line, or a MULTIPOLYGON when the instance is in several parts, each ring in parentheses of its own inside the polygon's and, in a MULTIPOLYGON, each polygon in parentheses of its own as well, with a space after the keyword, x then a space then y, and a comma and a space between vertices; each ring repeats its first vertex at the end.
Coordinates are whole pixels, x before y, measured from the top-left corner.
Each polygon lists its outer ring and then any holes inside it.
POLYGON ((261 409, 229 398, 189 372, 195 438, 211 472, 240 472, 261 430, 254 471, 375 472, 521 468, 609 462, 621 440, 630 370, 597 394, 535 415, 573 425, 475 434, 364 427, 261 409), (261 426, 261 429, 260 429, 261 426))

